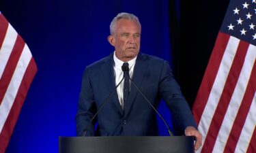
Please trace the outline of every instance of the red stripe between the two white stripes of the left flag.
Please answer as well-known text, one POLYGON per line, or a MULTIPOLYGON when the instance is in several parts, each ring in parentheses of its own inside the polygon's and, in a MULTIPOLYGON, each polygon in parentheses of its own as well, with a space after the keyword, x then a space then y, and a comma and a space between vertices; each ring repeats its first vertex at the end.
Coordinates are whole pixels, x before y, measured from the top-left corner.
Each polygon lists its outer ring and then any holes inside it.
POLYGON ((23 52, 24 46, 25 42, 20 37, 20 35, 18 35, 16 42, 14 44, 14 48, 12 48, 10 58, 8 59, 8 63, 6 64, 5 69, 3 71, 3 75, 0 79, 0 105, 3 101, 3 97, 5 96, 5 92, 8 89, 8 86, 12 79, 12 75, 16 69, 18 59, 20 58, 20 54, 23 52))

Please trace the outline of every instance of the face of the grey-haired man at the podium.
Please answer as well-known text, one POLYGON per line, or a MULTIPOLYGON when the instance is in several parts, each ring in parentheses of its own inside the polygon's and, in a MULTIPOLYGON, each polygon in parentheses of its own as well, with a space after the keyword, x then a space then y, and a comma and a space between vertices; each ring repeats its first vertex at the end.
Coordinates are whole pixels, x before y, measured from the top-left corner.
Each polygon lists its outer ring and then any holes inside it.
POLYGON ((115 56, 121 61, 130 61, 137 56, 141 44, 141 27, 135 20, 120 19, 109 36, 109 42, 115 46, 115 56))

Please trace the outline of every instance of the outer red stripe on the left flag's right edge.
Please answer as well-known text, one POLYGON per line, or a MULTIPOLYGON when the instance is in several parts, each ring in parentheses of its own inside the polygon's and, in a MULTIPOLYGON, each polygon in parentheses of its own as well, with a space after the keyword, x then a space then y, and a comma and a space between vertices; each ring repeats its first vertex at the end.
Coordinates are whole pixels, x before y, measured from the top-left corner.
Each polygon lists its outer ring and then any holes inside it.
POLYGON ((0 133, 0 153, 4 153, 5 149, 8 146, 8 142, 10 141, 10 137, 12 135, 12 131, 18 119, 18 115, 20 114, 20 109, 23 106, 25 101, 25 97, 27 96, 27 92, 29 90, 29 86, 35 76, 37 71, 37 67, 35 65, 35 61, 31 58, 29 65, 25 71, 23 76, 23 80, 18 88, 18 92, 16 98, 14 100, 14 104, 12 105, 12 109, 10 110, 10 114, 3 125, 3 129, 0 133))

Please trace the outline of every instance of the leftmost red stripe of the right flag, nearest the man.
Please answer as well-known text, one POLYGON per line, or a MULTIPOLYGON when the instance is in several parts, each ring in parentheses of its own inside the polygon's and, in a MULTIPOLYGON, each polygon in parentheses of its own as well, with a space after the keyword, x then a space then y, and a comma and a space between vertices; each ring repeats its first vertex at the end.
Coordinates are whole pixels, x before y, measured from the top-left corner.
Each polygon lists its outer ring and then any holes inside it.
POLYGON ((193 115, 197 124, 199 124, 199 121, 201 120, 203 109, 208 101, 208 97, 218 73, 218 67, 221 65, 221 59, 223 58, 228 41, 229 35, 225 33, 218 33, 208 67, 205 70, 205 75, 203 76, 199 92, 197 93, 197 98, 193 105, 193 115))

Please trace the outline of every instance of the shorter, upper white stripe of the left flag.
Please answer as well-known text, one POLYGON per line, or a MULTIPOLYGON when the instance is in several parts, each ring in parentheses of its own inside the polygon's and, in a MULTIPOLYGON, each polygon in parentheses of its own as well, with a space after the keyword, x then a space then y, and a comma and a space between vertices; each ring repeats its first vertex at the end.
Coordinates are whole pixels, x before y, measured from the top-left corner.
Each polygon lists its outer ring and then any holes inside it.
POLYGON ((5 66, 8 63, 10 54, 12 53, 12 48, 14 48, 17 36, 18 33, 10 24, 8 24, 8 30, 5 35, 5 39, 3 40, 3 45, 0 49, 0 79, 3 75, 5 66))

